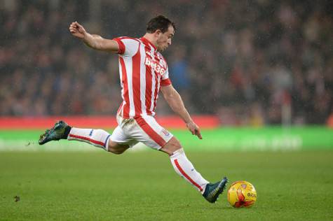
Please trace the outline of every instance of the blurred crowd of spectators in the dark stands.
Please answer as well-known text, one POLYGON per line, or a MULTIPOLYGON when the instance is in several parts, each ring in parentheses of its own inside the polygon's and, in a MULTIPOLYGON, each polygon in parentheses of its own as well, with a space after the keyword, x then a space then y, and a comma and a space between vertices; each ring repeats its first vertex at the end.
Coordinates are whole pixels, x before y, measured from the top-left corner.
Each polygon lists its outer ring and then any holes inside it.
MULTIPOLYGON (((0 0, 0 115, 115 115, 118 58, 69 34, 177 31, 163 55, 192 114, 222 124, 323 124, 333 112, 332 1, 0 0)), ((159 115, 171 113, 162 96, 159 115)))

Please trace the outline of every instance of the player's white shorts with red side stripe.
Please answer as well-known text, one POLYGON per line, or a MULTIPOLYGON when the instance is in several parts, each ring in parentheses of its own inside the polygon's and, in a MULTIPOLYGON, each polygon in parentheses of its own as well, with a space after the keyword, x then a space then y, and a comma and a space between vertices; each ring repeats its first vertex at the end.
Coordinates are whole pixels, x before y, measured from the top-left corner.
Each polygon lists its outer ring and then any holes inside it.
POLYGON ((160 150, 173 136, 150 115, 141 115, 134 119, 124 119, 117 115, 117 122, 118 127, 114 129, 111 141, 130 147, 142 142, 149 148, 160 150))

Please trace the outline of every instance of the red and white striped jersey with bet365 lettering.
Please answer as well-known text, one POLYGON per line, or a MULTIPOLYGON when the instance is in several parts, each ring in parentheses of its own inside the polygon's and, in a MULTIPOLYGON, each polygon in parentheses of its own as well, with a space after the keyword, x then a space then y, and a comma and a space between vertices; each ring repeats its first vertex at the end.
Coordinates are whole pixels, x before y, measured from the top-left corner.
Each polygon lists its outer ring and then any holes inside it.
POLYGON ((170 85, 168 64, 147 38, 114 38, 119 50, 119 75, 123 118, 155 115, 161 86, 170 85))

